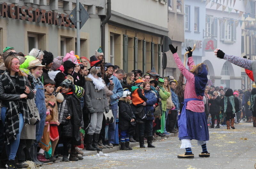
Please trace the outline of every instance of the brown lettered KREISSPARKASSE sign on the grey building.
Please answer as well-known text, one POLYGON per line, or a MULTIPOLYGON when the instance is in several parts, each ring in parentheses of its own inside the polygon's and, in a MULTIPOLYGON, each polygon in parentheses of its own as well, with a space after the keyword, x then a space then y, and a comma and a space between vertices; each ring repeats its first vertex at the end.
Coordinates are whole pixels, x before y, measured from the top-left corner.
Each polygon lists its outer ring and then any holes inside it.
POLYGON ((20 19, 29 22, 40 22, 75 28, 75 25, 69 20, 69 15, 38 8, 33 9, 32 7, 7 4, 6 2, 0 4, 0 17, 1 16, 3 18, 20 19))

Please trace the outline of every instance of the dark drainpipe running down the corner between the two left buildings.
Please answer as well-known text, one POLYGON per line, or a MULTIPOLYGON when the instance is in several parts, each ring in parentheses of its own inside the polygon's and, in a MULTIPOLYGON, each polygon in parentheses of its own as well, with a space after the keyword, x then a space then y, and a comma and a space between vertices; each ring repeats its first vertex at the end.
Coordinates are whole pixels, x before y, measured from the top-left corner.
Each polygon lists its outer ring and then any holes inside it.
POLYGON ((101 23, 101 49, 102 52, 104 53, 104 58, 105 58, 105 25, 108 23, 108 20, 111 17, 111 0, 107 0, 107 14, 106 18, 103 19, 101 23))

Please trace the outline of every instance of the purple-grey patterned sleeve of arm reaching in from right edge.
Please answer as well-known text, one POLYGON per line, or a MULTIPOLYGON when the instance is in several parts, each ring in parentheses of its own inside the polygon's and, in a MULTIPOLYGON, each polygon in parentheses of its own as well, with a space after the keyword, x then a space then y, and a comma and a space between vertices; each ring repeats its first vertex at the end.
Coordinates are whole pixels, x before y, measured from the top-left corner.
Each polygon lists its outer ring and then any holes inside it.
POLYGON ((243 67, 248 70, 252 70, 252 67, 251 67, 252 60, 241 58, 238 56, 232 56, 228 54, 224 55, 224 59, 229 61, 230 63, 233 63, 236 66, 243 67))

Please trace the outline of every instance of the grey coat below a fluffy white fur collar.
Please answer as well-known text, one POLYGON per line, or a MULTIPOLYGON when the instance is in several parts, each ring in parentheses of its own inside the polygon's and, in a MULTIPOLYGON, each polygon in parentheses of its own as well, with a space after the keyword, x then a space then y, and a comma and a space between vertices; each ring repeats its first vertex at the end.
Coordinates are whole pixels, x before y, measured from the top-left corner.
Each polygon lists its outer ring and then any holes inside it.
POLYGON ((90 113, 109 111, 105 90, 95 89, 92 79, 88 77, 85 78, 84 102, 90 113))

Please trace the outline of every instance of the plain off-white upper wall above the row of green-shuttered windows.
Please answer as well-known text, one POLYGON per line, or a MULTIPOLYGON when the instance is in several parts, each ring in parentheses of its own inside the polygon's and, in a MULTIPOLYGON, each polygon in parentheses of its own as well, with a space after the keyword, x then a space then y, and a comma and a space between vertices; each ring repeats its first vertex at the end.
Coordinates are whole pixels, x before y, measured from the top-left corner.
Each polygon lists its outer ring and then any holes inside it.
POLYGON ((112 0, 111 10, 168 28, 168 5, 156 0, 112 0))

